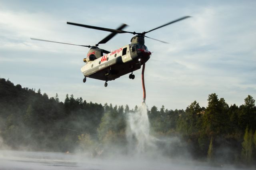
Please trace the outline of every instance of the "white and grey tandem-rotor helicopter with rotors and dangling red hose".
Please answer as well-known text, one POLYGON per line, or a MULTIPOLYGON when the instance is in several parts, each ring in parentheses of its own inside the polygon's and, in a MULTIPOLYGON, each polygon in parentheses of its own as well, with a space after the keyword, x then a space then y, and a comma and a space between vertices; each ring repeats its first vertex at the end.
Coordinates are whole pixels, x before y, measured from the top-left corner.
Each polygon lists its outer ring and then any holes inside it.
MULTIPOLYGON (((152 30, 149 30, 147 32, 142 32, 142 33, 124 31, 123 29, 126 28, 127 26, 126 24, 122 24, 117 29, 110 29, 110 28, 102 28, 97 26, 89 26, 84 24, 67 22, 67 24, 74 25, 74 26, 80 26, 85 28, 111 32, 111 34, 109 34, 106 38, 102 39, 100 42, 98 42, 95 45, 92 45, 92 46, 78 45, 78 46, 90 48, 86 58, 83 59, 83 61, 85 62, 85 65, 81 68, 81 71, 84 75, 83 82, 84 83, 86 82, 86 78, 103 80, 105 81, 104 86, 107 87, 108 81, 115 80, 121 77, 122 75, 126 75, 128 73, 130 73, 129 78, 134 79, 135 75, 133 74, 133 71, 140 69, 141 65, 143 65, 142 83, 144 84, 145 63, 150 59, 150 56, 152 54, 152 52, 150 52, 148 50, 148 47, 145 45, 145 40, 144 40, 145 37, 146 38, 150 38, 150 37, 146 36, 145 34, 152 32, 154 30, 157 30, 159 28, 162 28, 164 26, 167 26, 169 24, 173 24, 175 22, 184 20, 189 17, 190 16, 184 16, 182 18, 178 18, 176 20, 168 22, 167 24, 164 24, 162 26, 159 26, 157 28, 154 28, 152 30), (98 47, 99 44, 108 42, 116 34, 124 34, 124 33, 135 35, 130 40, 131 42, 130 44, 117 48, 114 51, 107 51, 105 49, 101 49, 98 47)), ((36 38, 31 38, 31 39, 45 41, 45 42, 62 43, 62 42, 42 40, 42 39, 36 39, 36 38)), ((150 38, 150 39, 156 40, 162 43, 167 43, 154 38, 150 38)), ((63 44, 77 45, 77 44, 71 44, 71 43, 63 43, 63 44)), ((144 98, 146 98, 146 92, 145 92, 144 98)))

